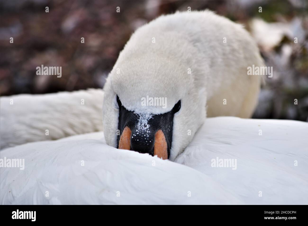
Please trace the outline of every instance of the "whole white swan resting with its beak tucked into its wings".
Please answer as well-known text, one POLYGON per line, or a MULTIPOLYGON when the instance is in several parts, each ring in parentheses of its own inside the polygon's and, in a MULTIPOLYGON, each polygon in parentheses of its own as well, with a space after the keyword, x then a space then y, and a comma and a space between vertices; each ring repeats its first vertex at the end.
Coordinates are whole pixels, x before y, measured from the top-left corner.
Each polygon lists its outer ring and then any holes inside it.
POLYGON ((307 123, 205 119, 251 116, 260 85, 260 77, 247 75, 252 65, 263 62, 241 26, 209 11, 176 13, 136 31, 104 93, 15 96, 15 106, 2 97, 1 145, 18 146, 0 152, 0 203, 307 204, 307 123), (147 96, 167 102, 144 106, 147 96), (102 129, 103 97, 107 142, 98 132, 19 145, 102 129), (38 103, 46 108, 36 116, 26 111, 38 103), (146 139, 138 143, 141 134, 146 139), (147 149, 146 141, 156 146, 147 149), (132 144, 180 164, 115 149, 132 144), (12 167, 14 159, 24 160, 24 169, 12 167))

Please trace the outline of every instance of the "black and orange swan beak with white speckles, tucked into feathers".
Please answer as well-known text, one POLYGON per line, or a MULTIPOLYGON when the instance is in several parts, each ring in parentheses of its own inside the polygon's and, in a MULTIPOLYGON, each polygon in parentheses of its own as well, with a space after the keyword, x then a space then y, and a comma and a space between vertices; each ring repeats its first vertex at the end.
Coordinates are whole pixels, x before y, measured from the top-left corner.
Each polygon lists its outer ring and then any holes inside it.
POLYGON ((138 114, 126 109, 118 96, 117 102, 120 131, 117 134, 117 148, 168 159, 172 145, 173 117, 175 108, 180 108, 180 101, 171 111, 162 114, 138 114))

